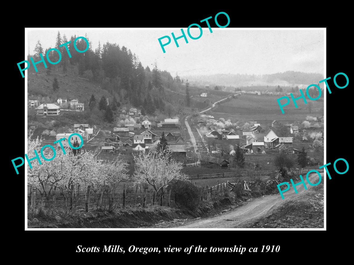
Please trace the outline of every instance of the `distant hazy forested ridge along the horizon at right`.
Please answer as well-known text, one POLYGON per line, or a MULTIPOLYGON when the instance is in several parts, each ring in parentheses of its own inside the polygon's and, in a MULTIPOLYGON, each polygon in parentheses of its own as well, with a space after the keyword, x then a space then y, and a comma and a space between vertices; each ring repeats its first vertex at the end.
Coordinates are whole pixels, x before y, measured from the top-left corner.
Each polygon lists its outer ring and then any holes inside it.
POLYGON ((286 71, 283 73, 273 73, 268 75, 247 75, 247 74, 215 74, 210 76, 184 76, 196 85, 224 85, 224 86, 255 86, 269 85, 277 86, 286 84, 317 84, 324 79, 319 73, 304 73, 295 71, 286 71))

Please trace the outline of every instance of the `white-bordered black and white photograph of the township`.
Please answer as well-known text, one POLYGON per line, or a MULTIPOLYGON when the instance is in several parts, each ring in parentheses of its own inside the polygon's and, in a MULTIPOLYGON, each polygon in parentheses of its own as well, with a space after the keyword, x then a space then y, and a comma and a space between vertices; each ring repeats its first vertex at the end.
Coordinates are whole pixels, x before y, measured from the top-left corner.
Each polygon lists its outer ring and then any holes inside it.
POLYGON ((325 230, 326 29, 200 25, 26 28, 25 229, 325 230))

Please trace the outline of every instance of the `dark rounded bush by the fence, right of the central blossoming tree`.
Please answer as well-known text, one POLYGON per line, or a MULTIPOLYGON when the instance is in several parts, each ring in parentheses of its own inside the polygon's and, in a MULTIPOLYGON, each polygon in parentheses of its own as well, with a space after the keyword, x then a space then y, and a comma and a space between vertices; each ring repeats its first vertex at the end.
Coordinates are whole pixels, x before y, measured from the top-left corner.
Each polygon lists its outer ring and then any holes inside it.
POLYGON ((171 189, 176 193, 176 205, 188 210, 198 207, 201 198, 201 189, 189 180, 176 179, 171 183, 171 189))

